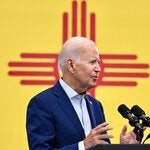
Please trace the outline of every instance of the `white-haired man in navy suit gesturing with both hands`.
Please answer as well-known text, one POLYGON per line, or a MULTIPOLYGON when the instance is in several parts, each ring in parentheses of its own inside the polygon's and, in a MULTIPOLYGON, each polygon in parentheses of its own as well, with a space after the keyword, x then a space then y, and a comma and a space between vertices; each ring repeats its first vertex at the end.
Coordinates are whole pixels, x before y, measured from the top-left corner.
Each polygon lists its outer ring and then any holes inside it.
MULTIPOLYGON (((30 150, 88 150, 109 144, 112 127, 105 122, 102 104, 87 94, 96 86, 101 71, 95 43, 84 37, 65 42, 58 58, 62 77, 34 96, 27 108, 27 135, 30 150)), ((124 126, 120 141, 136 143, 124 126)))

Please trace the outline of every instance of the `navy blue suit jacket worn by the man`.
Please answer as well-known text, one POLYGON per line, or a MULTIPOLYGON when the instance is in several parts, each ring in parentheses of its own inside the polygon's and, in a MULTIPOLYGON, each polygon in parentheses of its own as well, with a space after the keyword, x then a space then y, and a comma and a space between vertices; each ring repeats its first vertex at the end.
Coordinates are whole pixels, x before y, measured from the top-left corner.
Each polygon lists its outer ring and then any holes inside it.
MULTIPOLYGON (((86 96, 92 128, 105 121, 99 101, 86 96)), ((78 150, 85 139, 80 120, 59 81, 29 102, 27 136, 30 150, 78 150)))

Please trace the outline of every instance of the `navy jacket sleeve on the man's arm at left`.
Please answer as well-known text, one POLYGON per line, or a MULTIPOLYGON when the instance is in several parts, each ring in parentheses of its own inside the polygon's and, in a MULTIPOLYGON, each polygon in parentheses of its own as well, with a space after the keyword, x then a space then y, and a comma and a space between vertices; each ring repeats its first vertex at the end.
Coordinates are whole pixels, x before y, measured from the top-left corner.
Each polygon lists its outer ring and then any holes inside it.
MULTIPOLYGON (((33 98, 27 108, 26 129, 30 150, 78 150, 78 142, 56 147, 55 120, 49 107, 33 98)), ((66 139, 67 140, 67 139, 66 139)))

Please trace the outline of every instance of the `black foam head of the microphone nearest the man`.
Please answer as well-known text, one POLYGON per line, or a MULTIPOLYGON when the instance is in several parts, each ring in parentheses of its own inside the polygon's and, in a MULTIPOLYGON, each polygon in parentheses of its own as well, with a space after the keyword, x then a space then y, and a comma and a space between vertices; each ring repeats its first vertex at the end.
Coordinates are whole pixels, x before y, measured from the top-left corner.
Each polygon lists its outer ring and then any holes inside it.
POLYGON ((127 115, 131 113, 130 109, 125 104, 121 104, 118 107, 118 111, 124 118, 127 118, 127 115))

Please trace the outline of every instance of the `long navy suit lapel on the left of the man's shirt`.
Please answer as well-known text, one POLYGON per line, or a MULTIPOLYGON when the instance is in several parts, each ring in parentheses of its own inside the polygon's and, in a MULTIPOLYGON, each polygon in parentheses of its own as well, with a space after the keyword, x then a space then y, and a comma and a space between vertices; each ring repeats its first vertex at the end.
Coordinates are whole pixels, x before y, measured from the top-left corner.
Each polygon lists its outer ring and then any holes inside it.
POLYGON ((74 127, 79 131, 82 138, 85 138, 85 133, 80 120, 61 85, 59 82, 54 86, 54 94, 58 97, 58 103, 60 107, 64 110, 65 114, 68 116, 69 120, 73 123, 74 127))

